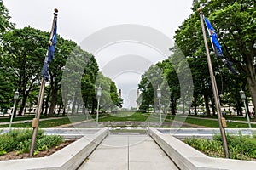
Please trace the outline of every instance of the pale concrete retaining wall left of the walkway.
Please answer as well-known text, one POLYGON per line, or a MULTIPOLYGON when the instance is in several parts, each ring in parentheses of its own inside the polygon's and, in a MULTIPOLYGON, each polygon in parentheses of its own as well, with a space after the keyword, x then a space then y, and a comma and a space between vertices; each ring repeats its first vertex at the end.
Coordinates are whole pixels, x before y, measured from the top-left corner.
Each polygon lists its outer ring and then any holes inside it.
POLYGON ((55 154, 42 158, 27 158, 20 160, 0 161, 1 170, 70 170, 76 169, 96 149, 108 135, 108 128, 99 129, 98 132, 86 135, 83 138, 67 145, 55 154))

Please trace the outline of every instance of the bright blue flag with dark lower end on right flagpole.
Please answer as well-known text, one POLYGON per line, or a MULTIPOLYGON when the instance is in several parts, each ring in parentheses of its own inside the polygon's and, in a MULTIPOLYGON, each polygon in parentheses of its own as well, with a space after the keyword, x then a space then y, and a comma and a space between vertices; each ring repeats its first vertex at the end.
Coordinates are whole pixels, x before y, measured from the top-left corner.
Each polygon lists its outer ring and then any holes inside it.
POLYGON ((210 21, 207 20, 207 17, 205 17, 205 16, 204 16, 204 20, 205 20, 206 25, 207 25, 207 30, 208 30, 208 33, 209 33, 209 37, 211 37, 212 46, 213 46, 212 48, 214 49, 215 56, 221 58, 224 62, 224 65, 226 65, 226 67, 228 67, 228 69, 233 74, 237 74, 235 68, 233 67, 233 64, 228 59, 224 58, 224 55, 223 55, 222 50, 221 50, 221 46, 218 43, 217 34, 216 34, 214 28, 212 27, 210 21))

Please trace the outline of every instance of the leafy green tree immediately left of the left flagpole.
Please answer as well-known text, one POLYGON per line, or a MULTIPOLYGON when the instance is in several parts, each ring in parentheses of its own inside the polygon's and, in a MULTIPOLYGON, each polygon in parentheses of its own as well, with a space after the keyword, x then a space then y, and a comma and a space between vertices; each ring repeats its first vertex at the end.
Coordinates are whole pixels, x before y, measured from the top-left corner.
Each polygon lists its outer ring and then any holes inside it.
POLYGON ((3 34, 3 69, 9 71, 21 97, 21 116, 28 94, 40 77, 49 33, 27 26, 3 34))

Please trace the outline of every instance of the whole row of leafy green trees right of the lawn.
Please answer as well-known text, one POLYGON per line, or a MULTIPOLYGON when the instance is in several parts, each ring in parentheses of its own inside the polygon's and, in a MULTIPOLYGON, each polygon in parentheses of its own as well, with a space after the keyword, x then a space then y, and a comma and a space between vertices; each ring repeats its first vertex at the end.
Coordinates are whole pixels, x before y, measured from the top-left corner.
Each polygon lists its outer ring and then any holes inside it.
MULTIPOLYGON (((250 99, 252 99, 253 105, 256 105, 255 3, 249 0, 203 0, 201 3, 204 4, 203 11, 205 16, 212 22, 212 26, 218 34, 218 40, 222 45, 224 56, 234 64, 236 70, 239 72, 237 76, 232 75, 230 71, 224 67, 222 60, 212 58, 221 104, 235 107, 237 114, 240 115, 241 99, 239 91, 241 88, 246 91, 247 96, 251 96, 250 99)), ((177 75, 180 74, 178 70, 183 69, 183 66, 175 64, 173 59, 177 59, 182 52, 186 61, 189 63, 193 77, 194 94, 192 105, 195 107, 195 114, 198 105, 204 105, 208 115, 210 114, 209 108, 212 107, 213 114, 215 114, 212 85, 201 32, 201 21, 197 12, 199 7, 200 4, 198 1, 194 0, 192 7, 194 11, 193 14, 190 14, 189 18, 184 20, 182 26, 179 26, 176 31, 176 35, 174 36, 176 47, 172 48, 173 54, 170 59, 166 59, 163 62, 151 66, 143 75, 142 81, 138 86, 142 92, 142 108, 148 108, 148 105, 154 105, 154 96, 156 96, 154 92, 156 92, 156 90, 153 91, 152 89, 156 89, 156 85, 154 81, 150 81, 148 75, 152 75, 150 72, 154 71, 154 67, 157 67, 162 73, 160 74, 161 78, 166 79, 168 84, 170 95, 168 95, 168 99, 166 100, 169 101, 169 106, 173 113, 177 110, 177 101, 180 100, 180 93, 183 91, 179 83, 180 78, 177 78, 177 75)), ((213 49, 210 50, 213 51, 213 49)), ((214 54, 212 54, 212 57, 213 55, 214 54)), ((161 83, 158 82, 158 85, 160 84, 161 83)), ((166 85, 163 87, 165 86, 166 85)), ((190 99, 188 100, 190 101, 190 99)), ((256 107, 254 107, 254 112, 255 108, 256 107)))

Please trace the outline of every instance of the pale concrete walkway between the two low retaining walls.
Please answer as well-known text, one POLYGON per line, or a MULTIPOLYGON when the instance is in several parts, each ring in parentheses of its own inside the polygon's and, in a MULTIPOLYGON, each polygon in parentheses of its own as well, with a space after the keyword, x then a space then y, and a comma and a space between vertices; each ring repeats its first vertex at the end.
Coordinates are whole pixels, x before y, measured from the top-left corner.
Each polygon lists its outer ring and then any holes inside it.
POLYGON ((177 170, 178 168, 148 136, 110 135, 78 169, 177 170))

